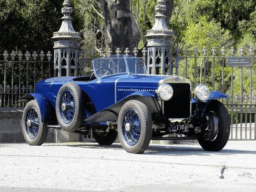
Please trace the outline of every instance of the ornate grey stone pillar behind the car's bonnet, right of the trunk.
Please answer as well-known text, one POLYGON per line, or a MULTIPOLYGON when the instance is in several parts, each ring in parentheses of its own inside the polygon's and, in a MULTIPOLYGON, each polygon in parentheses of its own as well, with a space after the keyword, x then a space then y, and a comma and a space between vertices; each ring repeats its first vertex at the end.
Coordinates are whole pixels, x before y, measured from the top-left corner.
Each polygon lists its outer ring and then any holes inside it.
POLYGON ((155 6, 155 24, 148 30, 148 73, 172 74, 172 37, 174 32, 168 29, 163 13, 166 10, 166 0, 158 0, 155 6))

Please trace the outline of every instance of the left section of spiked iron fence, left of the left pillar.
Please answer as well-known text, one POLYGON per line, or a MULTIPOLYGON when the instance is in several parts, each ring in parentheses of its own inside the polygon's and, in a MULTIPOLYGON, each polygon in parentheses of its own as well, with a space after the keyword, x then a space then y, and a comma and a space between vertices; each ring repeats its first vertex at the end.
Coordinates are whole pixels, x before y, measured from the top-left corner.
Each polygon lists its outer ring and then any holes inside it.
POLYGON ((23 107, 18 99, 34 91, 38 80, 53 76, 52 63, 50 51, 4 51, 0 55, 0 107, 23 107))

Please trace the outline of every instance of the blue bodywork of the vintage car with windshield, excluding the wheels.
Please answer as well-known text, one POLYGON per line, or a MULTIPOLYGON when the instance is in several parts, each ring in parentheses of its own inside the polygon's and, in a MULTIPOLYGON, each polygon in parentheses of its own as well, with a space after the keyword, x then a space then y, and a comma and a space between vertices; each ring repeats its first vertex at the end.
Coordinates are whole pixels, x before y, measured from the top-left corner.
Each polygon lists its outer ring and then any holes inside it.
MULTIPOLYGON (((191 131, 190 124, 199 125, 201 121, 205 121, 204 113, 210 102, 226 97, 226 94, 212 91, 207 99, 201 101, 193 96, 190 80, 180 76, 149 75, 143 60, 127 55, 113 55, 94 59, 91 76, 41 80, 36 84, 35 93, 25 94, 21 102, 35 100, 40 108, 40 120, 48 127, 87 133, 91 128, 98 130, 101 127, 102 132, 117 129, 122 107, 132 105, 129 101, 137 101, 137 105, 146 105, 152 120, 152 139, 165 139, 163 136, 169 133, 180 133, 195 139, 200 137, 201 131, 191 131), (63 85, 67 85, 67 88, 63 88, 63 85), (163 85, 166 90, 161 90, 163 85), (72 90, 69 91, 70 88, 72 90), (69 92, 71 94, 66 94, 69 92), (80 97, 77 101, 74 99, 75 94, 80 97), (165 101, 161 94, 172 94, 171 99, 165 101), (67 102, 67 98, 70 101, 67 102), (83 106, 76 105, 76 102, 83 106), (73 110, 68 109, 70 106, 73 110), (79 113, 75 113, 75 110, 79 110, 79 113), (58 119, 59 115, 63 115, 62 118, 58 119), (68 123, 61 126, 60 121, 66 118, 70 121, 67 120, 68 123), (69 123, 76 118, 80 121, 79 126, 76 123, 76 127, 69 130, 69 123)), ((138 110, 140 109, 135 110, 135 115, 138 110)), ((140 120, 141 117, 137 119, 140 120)), ((30 120, 25 119, 24 122, 26 121, 30 125, 30 120)), ((126 123, 126 130, 130 132, 130 123, 126 123)), ((126 130, 123 128, 123 132, 126 130)))

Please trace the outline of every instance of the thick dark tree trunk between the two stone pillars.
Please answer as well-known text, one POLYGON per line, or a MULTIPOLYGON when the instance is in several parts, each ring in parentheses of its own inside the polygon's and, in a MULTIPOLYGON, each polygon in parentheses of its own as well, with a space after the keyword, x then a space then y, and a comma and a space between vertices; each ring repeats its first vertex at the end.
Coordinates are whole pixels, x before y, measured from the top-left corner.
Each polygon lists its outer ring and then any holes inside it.
POLYGON ((130 12, 129 0, 99 0, 105 16, 106 40, 113 53, 120 48, 132 52, 140 41, 140 32, 130 12))

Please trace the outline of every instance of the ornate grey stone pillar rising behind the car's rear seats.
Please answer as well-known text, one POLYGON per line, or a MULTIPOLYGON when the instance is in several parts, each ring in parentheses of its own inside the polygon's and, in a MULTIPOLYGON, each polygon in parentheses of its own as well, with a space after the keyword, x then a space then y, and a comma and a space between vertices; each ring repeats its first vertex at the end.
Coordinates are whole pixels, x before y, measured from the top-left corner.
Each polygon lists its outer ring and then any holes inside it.
POLYGON ((63 3, 62 26, 58 32, 54 32, 54 76, 77 76, 79 63, 79 49, 81 34, 76 32, 72 25, 69 0, 63 3))

